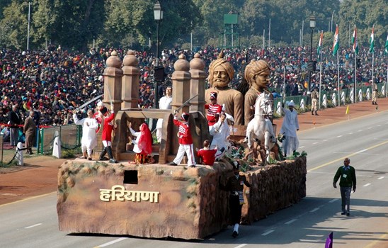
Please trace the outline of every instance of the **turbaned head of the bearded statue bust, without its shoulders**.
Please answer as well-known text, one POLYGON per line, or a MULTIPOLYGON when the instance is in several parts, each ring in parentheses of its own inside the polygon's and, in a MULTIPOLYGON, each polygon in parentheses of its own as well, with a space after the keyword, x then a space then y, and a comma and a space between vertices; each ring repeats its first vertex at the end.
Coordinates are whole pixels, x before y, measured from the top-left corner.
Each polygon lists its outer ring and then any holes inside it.
POLYGON ((234 68, 229 61, 224 59, 224 52, 219 52, 217 60, 213 60, 209 66, 210 86, 218 89, 228 87, 229 82, 234 77, 234 68))

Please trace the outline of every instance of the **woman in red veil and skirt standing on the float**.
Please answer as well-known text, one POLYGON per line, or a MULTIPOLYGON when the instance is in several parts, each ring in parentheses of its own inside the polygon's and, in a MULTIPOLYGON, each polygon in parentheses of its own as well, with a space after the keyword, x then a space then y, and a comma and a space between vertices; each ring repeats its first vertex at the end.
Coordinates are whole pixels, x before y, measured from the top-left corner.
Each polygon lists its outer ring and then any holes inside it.
POLYGON ((132 140, 134 146, 133 151, 136 152, 134 164, 146 164, 147 157, 152 153, 152 134, 146 123, 140 125, 140 132, 135 132, 132 129, 132 123, 128 124, 128 128, 133 136, 136 137, 132 140))

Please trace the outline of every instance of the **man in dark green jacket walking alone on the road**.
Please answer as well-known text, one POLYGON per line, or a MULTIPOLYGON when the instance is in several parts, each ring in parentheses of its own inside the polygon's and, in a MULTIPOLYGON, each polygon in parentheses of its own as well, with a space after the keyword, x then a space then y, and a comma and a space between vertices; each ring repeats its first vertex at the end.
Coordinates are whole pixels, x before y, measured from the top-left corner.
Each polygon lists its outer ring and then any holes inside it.
POLYGON ((340 191, 342 199, 342 213, 341 215, 350 215, 350 191, 355 192, 355 169, 350 166, 350 159, 343 160, 343 166, 339 167, 333 179, 333 187, 337 188, 337 181, 340 178, 340 191))

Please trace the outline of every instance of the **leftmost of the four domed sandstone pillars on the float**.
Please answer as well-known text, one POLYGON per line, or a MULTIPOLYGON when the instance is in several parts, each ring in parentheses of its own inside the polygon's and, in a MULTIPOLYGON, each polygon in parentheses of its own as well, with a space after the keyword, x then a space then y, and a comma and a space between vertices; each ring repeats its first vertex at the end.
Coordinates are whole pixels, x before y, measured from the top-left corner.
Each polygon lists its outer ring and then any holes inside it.
MULTIPOLYGON (((113 51, 108 60, 106 60, 106 68, 104 69, 104 98, 103 103, 110 105, 113 103, 115 113, 121 109, 121 81, 122 69, 121 60, 118 53, 113 51)), ((110 108, 110 107, 109 107, 110 108)), ((108 109, 109 109, 108 108, 108 109)))

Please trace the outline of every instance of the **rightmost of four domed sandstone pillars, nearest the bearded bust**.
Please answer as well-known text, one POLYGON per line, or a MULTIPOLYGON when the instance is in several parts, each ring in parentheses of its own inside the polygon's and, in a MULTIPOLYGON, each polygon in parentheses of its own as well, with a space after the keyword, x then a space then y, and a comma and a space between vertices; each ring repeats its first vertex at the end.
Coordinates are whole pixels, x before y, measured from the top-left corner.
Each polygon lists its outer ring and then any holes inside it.
POLYGON ((190 112, 201 112, 205 115, 205 62, 201 59, 200 54, 196 53, 194 59, 190 61, 190 98, 197 95, 198 97, 190 101, 190 112))

